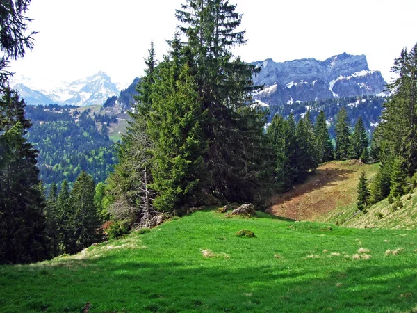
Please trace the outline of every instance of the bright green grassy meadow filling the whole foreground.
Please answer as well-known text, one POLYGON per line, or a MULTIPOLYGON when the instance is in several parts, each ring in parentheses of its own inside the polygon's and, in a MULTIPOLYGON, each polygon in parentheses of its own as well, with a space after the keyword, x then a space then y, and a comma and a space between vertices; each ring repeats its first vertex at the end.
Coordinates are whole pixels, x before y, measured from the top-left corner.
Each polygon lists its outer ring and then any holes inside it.
POLYGON ((199 211, 78 255, 0 266, 0 312, 416 312, 416 234, 199 211))

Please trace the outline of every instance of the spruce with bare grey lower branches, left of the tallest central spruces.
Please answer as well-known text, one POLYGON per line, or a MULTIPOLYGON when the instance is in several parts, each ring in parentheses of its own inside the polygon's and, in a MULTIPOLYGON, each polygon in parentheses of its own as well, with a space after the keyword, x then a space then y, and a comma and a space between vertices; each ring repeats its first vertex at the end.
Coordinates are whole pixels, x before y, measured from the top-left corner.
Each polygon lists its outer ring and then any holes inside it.
POLYGON ((133 225, 146 223, 154 213, 154 191, 149 188, 154 141, 149 134, 149 122, 158 116, 152 112, 152 89, 156 77, 156 57, 151 43, 147 65, 136 88, 136 113, 131 113, 131 122, 122 135, 122 143, 117 147, 119 163, 108 178, 105 198, 112 218, 130 229, 133 225))

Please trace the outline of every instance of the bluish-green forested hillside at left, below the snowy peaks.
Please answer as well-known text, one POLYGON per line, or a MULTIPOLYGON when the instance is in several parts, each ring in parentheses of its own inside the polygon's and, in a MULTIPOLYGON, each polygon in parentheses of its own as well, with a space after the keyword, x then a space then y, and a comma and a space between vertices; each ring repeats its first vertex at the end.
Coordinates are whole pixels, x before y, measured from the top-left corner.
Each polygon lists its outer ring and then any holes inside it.
POLYGON ((26 106, 26 116, 33 124, 27 138, 39 150, 40 179, 47 188, 63 179, 72 184, 82 170, 104 182, 113 170, 117 159, 107 125, 114 117, 53 105, 26 106))

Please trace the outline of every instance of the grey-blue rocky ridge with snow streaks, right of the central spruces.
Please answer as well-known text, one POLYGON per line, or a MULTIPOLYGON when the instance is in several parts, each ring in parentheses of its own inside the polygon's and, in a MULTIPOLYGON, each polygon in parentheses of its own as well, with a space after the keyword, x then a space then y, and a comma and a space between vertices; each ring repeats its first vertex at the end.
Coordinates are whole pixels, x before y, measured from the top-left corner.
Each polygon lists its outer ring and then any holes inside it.
POLYGON ((254 77, 265 88, 254 95, 263 106, 282 106, 359 95, 384 95, 381 72, 369 70, 366 56, 339 54, 325 61, 314 58, 276 63, 272 59, 251 63, 261 67, 254 77))

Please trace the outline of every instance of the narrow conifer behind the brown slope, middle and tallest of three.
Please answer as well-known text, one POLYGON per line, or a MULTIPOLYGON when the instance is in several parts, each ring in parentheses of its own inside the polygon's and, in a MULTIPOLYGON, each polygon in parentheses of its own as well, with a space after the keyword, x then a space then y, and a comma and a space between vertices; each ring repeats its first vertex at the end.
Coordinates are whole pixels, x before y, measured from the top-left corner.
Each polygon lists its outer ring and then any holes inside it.
POLYGON ((349 158, 350 150, 350 122, 344 107, 338 111, 336 120, 336 160, 346 160, 349 158))

